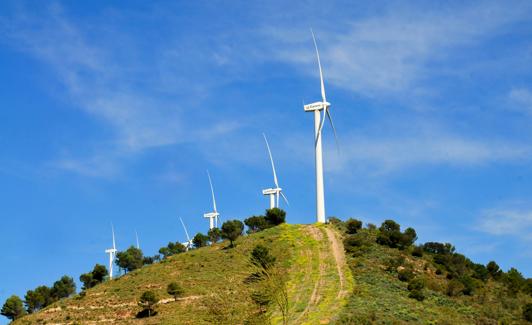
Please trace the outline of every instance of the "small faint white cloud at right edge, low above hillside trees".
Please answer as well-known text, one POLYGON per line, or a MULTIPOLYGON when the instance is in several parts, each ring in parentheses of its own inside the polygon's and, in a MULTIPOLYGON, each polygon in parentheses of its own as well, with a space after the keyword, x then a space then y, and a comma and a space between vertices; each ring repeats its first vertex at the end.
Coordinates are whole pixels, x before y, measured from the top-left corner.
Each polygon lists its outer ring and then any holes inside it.
POLYGON ((496 208, 482 213, 479 230, 493 235, 517 236, 532 240, 532 210, 524 208, 496 208))

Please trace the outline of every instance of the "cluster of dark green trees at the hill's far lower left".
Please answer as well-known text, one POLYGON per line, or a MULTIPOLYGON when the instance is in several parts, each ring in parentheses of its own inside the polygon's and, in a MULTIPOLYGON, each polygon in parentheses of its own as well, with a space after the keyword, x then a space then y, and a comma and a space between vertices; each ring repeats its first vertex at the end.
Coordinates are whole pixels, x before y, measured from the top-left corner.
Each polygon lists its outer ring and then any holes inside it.
POLYGON ((2 307, 1 314, 15 320, 26 313, 39 311, 59 299, 70 297, 75 292, 76 283, 71 277, 65 275, 54 282, 51 287, 42 285, 34 290, 28 290, 24 300, 16 295, 9 297, 2 307))

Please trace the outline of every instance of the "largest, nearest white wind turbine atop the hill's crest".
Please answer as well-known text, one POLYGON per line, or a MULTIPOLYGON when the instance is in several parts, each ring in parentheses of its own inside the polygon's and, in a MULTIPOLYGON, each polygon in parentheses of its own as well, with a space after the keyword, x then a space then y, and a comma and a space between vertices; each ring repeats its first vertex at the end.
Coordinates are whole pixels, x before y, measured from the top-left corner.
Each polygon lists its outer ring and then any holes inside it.
POLYGON ((325 195, 323 188, 323 154, 322 154, 322 130, 323 124, 325 123, 325 117, 329 119, 331 127, 334 132, 334 137, 336 143, 338 144, 338 138, 336 136, 336 129, 332 122, 331 113, 329 112, 329 107, 331 103, 327 102, 325 97, 325 85, 323 83, 323 72, 321 70, 320 62, 320 53, 318 51, 318 45, 316 44, 316 38, 314 37, 314 32, 312 33, 312 40, 314 41, 314 48, 316 49, 316 57, 318 58, 318 68, 320 70, 320 83, 321 83, 321 101, 314 102, 312 104, 304 105, 305 112, 314 112, 314 148, 315 148, 315 158, 316 158, 316 219, 319 223, 325 223, 325 195), (323 117, 321 116, 321 111, 323 110, 323 117))

